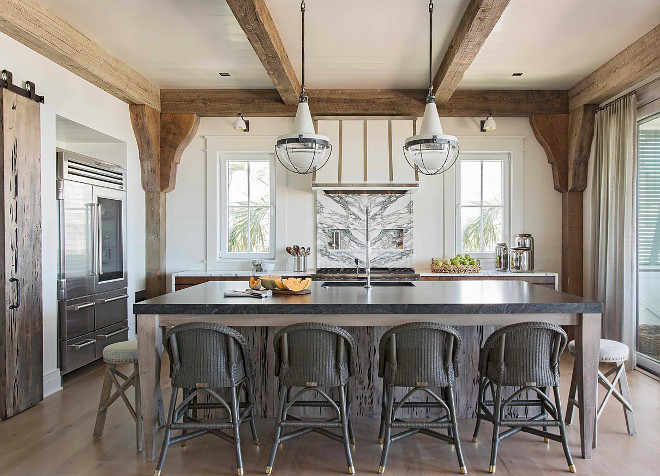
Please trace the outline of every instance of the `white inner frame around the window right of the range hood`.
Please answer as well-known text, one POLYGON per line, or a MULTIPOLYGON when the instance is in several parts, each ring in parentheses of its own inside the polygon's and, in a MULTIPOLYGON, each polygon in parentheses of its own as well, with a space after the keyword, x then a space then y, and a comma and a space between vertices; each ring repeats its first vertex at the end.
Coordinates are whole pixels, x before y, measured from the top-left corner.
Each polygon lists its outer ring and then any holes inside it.
MULTIPOLYGON (((454 195, 454 213, 456 214, 456 227, 455 227, 455 233, 454 233, 454 246, 455 249, 457 250, 456 252, 458 253, 459 250, 461 250, 461 203, 460 203, 460 198, 461 198, 461 180, 460 180, 460 174, 458 171, 460 171, 460 163, 462 160, 481 160, 482 163, 483 161, 499 161, 503 160, 503 170, 502 170, 502 198, 503 203, 501 205, 502 207, 502 240, 505 243, 510 243, 511 242, 511 154, 510 153, 502 153, 502 152, 464 152, 459 156, 458 161, 456 162, 455 167, 456 172, 454 176, 454 187, 455 187, 455 195, 454 195), (503 160, 504 159, 504 160, 503 160)), ((483 172, 482 172, 483 173, 483 172)), ((483 184, 482 184, 482 193, 483 193, 483 184)), ((483 204, 481 207, 483 208, 483 204)), ((463 251, 461 250, 461 253, 463 251)), ((476 259, 490 259, 493 258, 493 252, 473 252, 473 251, 468 251, 467 253, 470 254, 473 258, 476 259)))

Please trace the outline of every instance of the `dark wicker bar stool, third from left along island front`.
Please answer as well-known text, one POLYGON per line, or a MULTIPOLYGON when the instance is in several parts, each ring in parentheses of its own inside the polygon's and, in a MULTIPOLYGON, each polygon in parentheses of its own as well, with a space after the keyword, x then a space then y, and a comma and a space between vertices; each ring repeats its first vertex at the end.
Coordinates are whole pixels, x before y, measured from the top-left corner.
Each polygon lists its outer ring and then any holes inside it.
POLYGON ((383 406, 378 442, 383 443, 378 473, 385 472, 390 443, 417 433, 445 441, 456 448, 460 472, 467 473, 456 421, 454 379, 461 336, 455 329, 432 322, 414 322, 389 329, 378 346, 378 376, 383 379, 383 406), (395 401, 396 387, 412 387, 395 401), (433 388, 440 389, 440 395, 433 388), (425 393, 434 401, 408 402, 415 393, 425 393), (441 397, 444 395, 444 398, 441 397), (436 408, 444 415, 431 421, 407 421, 395 418, 402 408, 436 408), (392 428, 401 428, 392 435, 392 428), (447 429, 448 435, 433 429, 447 429))

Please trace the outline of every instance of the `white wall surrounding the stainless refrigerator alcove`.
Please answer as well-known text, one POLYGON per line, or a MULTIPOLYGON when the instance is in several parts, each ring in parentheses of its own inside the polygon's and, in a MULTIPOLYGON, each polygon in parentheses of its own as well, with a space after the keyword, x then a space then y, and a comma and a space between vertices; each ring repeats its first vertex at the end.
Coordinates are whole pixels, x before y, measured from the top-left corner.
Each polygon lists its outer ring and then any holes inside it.
MULTIPOLYGON (((79 78, 28 47, 0 33, 0 67, 14 75, 14 82, 33 81, 46 100, 41 106, 41 193, 44 292, 44 394, 60 388, 57 368, 57 243, 55 198, 57 146, 56 115, 65 117, 124 142, 128 195, 128 291, 132 307, 135 291, 144 289, 144 192, 140 162, 131 128, 128 105, 79 78)), ((108 157, 103 157, 108 159, 108 157)), ((130 308, 129 308, 130 309, 130 308)), ((133 326, 132 319, 129 323, 133 326)), ((131 328, 131 334, 135 329, 131 328)))

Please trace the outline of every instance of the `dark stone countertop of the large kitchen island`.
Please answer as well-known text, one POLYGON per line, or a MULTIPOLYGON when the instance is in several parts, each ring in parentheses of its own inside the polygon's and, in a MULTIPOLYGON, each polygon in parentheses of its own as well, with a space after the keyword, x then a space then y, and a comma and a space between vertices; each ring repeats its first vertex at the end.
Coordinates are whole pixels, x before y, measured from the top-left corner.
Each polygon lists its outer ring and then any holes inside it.
POLYGON ((590 301, 524 281, 417 281, 414 287, 322 287, 311 294, 225 298, 247 281, 207 282, 133 306, 135 314, 578 314, 602 313, 590 301))

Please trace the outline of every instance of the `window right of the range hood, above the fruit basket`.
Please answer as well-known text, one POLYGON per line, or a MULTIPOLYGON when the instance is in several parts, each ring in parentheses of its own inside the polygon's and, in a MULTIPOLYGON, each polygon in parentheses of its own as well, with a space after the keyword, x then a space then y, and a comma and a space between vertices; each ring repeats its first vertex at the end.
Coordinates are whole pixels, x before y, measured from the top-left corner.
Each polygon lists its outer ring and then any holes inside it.
POLYGON ((509 155, 464 154, 456 171, 456 249, 492 257, 509 238, 509 155))

